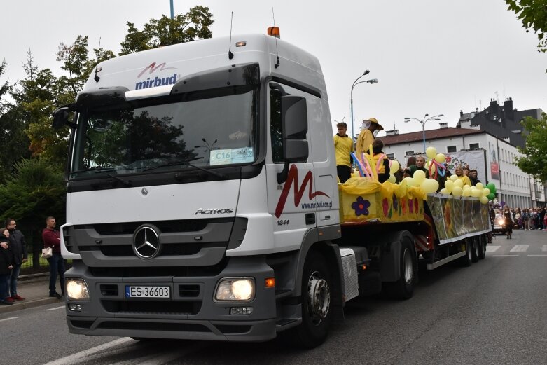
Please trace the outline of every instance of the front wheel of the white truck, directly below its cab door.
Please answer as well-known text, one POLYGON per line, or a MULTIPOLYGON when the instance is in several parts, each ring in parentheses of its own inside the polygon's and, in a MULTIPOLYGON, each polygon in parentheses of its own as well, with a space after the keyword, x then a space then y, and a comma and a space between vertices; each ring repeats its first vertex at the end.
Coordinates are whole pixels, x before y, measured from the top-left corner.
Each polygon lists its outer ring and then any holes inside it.
POLYGON ((302 273, 302 323, 287 333, 298 347, 314 348, 326 339, 333 317, 331 284, 324 257, 310 251, 302 273))

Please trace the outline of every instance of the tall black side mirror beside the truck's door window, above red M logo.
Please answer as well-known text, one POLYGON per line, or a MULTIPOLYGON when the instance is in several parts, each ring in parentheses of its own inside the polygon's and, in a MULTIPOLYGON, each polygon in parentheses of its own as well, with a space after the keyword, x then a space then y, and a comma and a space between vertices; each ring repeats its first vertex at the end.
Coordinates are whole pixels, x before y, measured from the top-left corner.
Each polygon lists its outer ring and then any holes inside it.
POLYGON ((289 163, 307 161, 307 107, 306 99, 293 95, 281 97, 283 156, 289 163))

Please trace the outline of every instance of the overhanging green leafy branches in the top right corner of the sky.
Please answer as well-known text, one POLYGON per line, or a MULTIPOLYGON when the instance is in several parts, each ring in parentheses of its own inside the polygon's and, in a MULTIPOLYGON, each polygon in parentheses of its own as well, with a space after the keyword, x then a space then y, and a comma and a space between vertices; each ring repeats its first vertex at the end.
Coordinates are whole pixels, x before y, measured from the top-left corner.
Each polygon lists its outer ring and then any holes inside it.
POLYGON ((506 0, 508 9, 514 11, 522 21, 522 27, 529 32, 533 29, 539 38, 537 47, 541 52, 547 51, 547 2, 546 0, 506 0))

